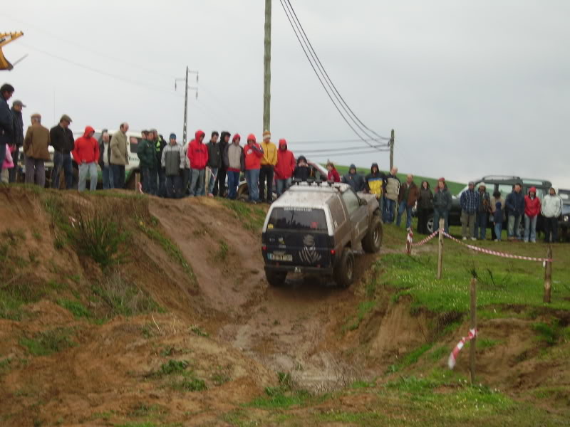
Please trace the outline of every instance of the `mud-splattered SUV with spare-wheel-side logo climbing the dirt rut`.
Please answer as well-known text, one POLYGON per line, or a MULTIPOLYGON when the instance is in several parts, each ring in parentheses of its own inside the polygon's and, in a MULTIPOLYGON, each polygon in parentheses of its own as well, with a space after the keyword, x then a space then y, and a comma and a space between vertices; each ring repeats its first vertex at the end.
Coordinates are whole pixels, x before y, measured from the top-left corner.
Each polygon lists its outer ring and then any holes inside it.
POLYGON ((337 285, 353 281, 354 254, 360 243, 380 251, 383 228, 378 201, 348 184, 296 183, 267 212, 262 234, 265 274, 270 285, 287 273, 332 276, 337 285))

